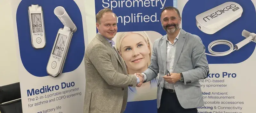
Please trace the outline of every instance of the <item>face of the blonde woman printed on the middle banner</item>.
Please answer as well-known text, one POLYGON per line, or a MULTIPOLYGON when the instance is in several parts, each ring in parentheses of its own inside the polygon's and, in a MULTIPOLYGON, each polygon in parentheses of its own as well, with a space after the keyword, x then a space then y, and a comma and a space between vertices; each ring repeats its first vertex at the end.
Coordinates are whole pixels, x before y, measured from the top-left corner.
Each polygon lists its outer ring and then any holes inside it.
POLYGON ((127 34, 121 42, 120 54, 128 70, 141 70, 148 67, 150 49, 148 42, 136 33, 127 34))

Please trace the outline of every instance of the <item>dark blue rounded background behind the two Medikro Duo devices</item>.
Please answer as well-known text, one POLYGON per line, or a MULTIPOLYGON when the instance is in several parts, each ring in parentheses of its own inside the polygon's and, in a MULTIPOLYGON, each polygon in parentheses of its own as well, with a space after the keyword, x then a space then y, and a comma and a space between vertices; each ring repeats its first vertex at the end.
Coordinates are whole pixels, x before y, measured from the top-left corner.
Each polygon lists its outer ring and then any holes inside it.
POLYGON ((84 30, 81 12, 73 0, 22 0, 16 12, 17 30, 20 47, 20 57, 25 69, 34 76, 48 76, 46 66, 58 30, 64 25, 54 14, 54 9, 62 6, 75 23, 77 30, 74 33, 68 50, 62 73, 75 70, 84 58, 84 30), (36 50, 31 44, 28 7, 38 4, 42 7, 46 45, 36 50))

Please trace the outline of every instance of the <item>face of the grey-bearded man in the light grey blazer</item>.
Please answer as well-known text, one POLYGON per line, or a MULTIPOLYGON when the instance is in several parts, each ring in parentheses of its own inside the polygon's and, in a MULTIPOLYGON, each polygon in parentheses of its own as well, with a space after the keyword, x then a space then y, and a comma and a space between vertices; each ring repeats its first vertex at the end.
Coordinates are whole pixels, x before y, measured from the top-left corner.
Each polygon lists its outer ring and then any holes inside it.
POLYGON ((163 29, 167 33, 174 33, 180 29, 181 18, 175 10, 164 10, 161 15, 163 29))

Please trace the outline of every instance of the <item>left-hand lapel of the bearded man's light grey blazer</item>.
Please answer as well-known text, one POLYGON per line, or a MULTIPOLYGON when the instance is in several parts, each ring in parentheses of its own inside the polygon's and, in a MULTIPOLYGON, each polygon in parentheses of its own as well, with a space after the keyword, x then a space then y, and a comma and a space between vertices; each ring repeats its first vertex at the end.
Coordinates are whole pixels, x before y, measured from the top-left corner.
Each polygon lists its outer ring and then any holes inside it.
POLYGON ((166 37, 167 37, 167 35, 165 35, 163 38, 161 38, 161 40, 160 40, 160 44, 161 44, 161 46, 160 46, 160 51, 161 51, 161 58, 162 58, 162 62, 163 62, 163 64, 164 64, 164 72, 165 72, 165 70, 166 70, 166 37))

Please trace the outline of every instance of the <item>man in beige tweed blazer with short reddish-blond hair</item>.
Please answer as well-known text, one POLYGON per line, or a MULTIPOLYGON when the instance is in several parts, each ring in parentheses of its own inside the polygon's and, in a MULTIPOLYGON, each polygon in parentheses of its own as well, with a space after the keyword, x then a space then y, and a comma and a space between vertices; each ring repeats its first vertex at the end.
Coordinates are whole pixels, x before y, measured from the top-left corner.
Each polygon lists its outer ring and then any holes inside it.
POLYGON ((140 87, 141 76, 128 75, 124 60, 114 47, 117 18, 106 8, 96 15, 99 31, 85 50, 84 113, 123 113, 127 89, 140 87))

